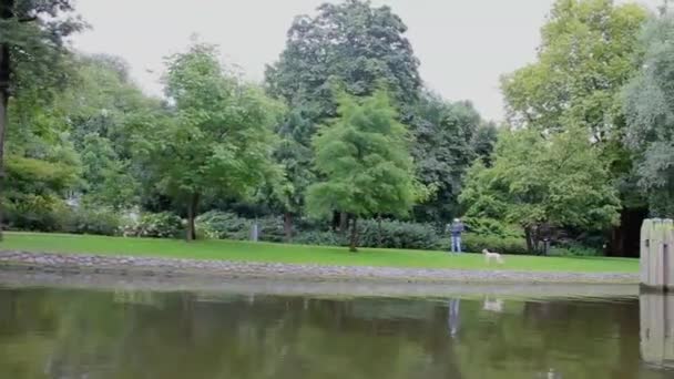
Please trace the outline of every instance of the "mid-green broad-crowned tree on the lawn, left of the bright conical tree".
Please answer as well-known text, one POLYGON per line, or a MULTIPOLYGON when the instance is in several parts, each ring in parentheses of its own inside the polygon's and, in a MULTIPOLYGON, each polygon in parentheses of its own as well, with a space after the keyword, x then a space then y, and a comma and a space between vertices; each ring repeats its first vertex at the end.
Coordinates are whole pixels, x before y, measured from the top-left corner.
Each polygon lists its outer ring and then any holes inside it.
POLYGON ((262 90, 226 73, 213 47, 193 45, 167 68, 174 122, 152 131, 147 151, 161 188, 185 204, 192 240, 204 195, 239 197, 264 183, 280 110, 262 90))

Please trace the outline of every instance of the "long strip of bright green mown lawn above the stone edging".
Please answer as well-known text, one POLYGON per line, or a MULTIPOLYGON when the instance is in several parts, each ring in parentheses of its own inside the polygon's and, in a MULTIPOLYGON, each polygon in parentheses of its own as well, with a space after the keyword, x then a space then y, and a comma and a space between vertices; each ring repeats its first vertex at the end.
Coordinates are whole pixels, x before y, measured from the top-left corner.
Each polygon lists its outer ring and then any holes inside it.
POLYGON ((35 253, 90 253, 130 256, 156 256, 192 259, 275 262, 289 264, 388 266, 484 269, 499 268, 538 272, 637 273, 639 260, 603 257, 506 256, 506 265, 487 266, 482 255, 450 256, 445 252, 360 249, 346 247, 298 246, 284 244, 198 240, 187 244, 176 239, 121 238, 64 234, 7 233, 0 250, 35 253))

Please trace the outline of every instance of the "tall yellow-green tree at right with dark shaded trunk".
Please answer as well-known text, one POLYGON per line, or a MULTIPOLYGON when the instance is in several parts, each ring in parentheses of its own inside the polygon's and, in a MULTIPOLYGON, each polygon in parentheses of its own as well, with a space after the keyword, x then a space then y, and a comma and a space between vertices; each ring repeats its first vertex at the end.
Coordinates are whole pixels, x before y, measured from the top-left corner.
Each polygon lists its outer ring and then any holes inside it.
POLYGON ((634 237, 624 236, 634 233, 626 226, 640 224, 646 206, 632 186, 620 93, 637 69, 639 33, 647 14, 636 3, 556 0, 541 30, 537 62, 501 83, 513 126, 559 132, 580 125, 595 142, 626 205, 621 225, 612 231, 609 250, 616 255, 637 254, 627 244, 634 237))

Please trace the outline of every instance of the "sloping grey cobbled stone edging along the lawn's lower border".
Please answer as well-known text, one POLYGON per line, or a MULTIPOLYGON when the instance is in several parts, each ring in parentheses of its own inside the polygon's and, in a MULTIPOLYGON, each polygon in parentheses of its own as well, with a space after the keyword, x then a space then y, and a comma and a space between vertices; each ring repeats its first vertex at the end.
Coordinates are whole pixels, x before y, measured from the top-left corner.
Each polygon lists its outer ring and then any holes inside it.
POLYGON ((0 252, 0 265, 27 270, 121 275, 493 284, 637 284, 639 274, 460 270, 0 252))

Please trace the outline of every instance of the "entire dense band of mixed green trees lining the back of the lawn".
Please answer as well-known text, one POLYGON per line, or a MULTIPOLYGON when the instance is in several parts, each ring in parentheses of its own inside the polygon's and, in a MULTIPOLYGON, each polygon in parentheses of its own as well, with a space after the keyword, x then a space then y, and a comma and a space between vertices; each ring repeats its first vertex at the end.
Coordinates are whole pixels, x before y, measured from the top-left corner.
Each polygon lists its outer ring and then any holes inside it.
POLYGON ((262 85, 194 44, 163 99, 69 49, 69 0, 0 0, 0 27, 10 228, 345 245, 350 222, 353 248, 445 248, 438 226, 467 216, 482 245, 533 252, 545 229, 603 244, 619 212, 674 212, 674 25, 633 3, 556 0, 499 127, 427 90, 405 22, 365 0, 297 17, 262 85))

